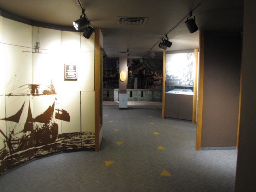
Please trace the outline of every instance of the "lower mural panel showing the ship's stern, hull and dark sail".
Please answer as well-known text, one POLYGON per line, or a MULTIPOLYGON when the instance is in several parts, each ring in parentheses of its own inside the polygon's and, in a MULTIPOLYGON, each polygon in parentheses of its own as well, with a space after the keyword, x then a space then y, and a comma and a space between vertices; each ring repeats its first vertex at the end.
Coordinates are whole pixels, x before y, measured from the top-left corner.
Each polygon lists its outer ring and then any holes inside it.
MULTIPOLYGON (((55 92, 33 96, 33 142, 36 156, 62 150, 62 113, 61 97, 55 92)), ((66 121, 69 121, 69 117, 66 121)))

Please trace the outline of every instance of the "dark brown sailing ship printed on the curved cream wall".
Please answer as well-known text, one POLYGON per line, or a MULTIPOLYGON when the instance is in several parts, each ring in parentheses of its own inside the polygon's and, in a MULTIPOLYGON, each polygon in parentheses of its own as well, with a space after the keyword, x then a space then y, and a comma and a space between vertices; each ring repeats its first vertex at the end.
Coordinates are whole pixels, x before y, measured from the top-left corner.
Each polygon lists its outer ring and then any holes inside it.
MULTIPOLYGON (((18 151, 24 151, 33 147, 38 147, 42 145, 47 145, 54 143, 58 137, 59 126, 55 122, 57 119, 62 121, 70 121, 69 113, 65 110, 56 109, 57 98, 54 86, 48 86, 49 90, 40 91, 38 90, 35 94, 33 87, 39 88, 39 85, 28 84, 28 89, 30 90, 30 95, 28 94, 18 94, 18 95, 8 95, 8 97, 23 96, 25 101, 21 105, 20 109, 10 116, 5 118, 0 118, 5 120, 9 125, 9 133, 4 135, 7 152, 9 155, 14 154, 18 151), (48 92, 48 94, 46 94, 48 92), (49 95, 53 101, 50 103, 48 108, 44 110, 41 114, 33 117, 31 110, 31 103, 34 96, 47 96, 49 95), (18 129, 18 130, 16 130, 18 129)), ((35 107, 35 106, 33 106, 35 107)))

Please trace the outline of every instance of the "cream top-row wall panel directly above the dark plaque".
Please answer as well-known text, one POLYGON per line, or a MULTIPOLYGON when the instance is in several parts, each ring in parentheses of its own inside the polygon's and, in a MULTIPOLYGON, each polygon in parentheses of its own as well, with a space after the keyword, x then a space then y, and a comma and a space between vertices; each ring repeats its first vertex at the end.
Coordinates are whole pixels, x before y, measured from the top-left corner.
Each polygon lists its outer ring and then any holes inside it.
POLYGON ((61 50, 62 52, 80 52, 81 33, 80 32, 61 32, 61 50))

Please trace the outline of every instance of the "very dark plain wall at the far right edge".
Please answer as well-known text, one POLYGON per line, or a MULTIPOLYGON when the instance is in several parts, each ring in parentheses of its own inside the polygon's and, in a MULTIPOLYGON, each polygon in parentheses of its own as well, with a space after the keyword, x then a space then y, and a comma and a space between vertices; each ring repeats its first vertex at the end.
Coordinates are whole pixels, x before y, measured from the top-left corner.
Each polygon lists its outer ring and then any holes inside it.
POLYGON ((244 1, 241 119, 235 192, 255 191, 256 172, 256 1, 244 1))

